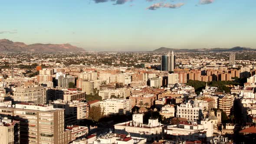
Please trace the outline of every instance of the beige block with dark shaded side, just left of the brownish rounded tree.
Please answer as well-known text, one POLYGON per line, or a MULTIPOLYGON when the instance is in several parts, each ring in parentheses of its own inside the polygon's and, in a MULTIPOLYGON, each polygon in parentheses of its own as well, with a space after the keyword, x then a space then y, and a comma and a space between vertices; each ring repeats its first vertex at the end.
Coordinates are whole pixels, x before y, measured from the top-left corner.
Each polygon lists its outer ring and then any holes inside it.
POLYGON ((52 102, 54 108, 65 109, 65 124, 78 124, 79 121, 88 118, 89 108, 87 102, 63 101, 61 99, 52 102))

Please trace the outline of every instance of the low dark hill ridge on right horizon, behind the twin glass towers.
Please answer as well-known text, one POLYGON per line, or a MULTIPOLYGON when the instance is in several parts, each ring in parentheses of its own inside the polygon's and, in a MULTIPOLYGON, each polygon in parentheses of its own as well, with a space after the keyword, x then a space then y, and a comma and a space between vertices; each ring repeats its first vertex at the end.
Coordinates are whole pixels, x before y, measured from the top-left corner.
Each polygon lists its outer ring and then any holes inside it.
POLYGON ((256 49, 246 48, 236 46, 231 49, 223 49, 223 48, 213 48, 213 49, 170 49, 161 47, 159 49, 155 49, 152 52, 239 52, 239 51, 256 51, 256 49))

